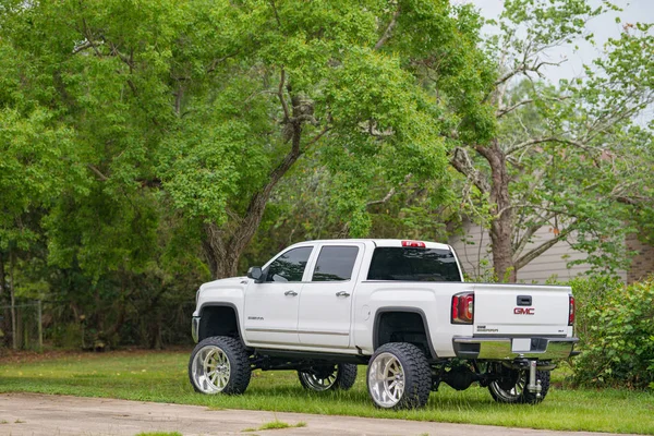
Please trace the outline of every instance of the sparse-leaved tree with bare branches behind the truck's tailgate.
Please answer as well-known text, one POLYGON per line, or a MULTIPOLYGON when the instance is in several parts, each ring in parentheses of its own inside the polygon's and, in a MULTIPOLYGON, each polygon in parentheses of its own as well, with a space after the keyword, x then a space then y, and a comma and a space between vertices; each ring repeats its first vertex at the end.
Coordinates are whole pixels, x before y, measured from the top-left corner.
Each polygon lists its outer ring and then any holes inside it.
POLYGON ((547 60, 547 49, 584 36, 585 22, 610 7, 516 0, 505 8, 501 34, 487 41, 498 73, 484 93, 497 133, 487 143, 456 138, 450 159, 474 186, 470 204, 489 227, 495 272, 516 281, 520 268, 562 240, 615 268, 629 229, 625 205, 642 204, 639 186, 651 177, 635 175, 645 167, 632 165, 652 156, 651 132, 632 121, 654 97, 653 59, 643 50, 652 45, 649 25, 610 40, 584 78, 553 87, 540 82, 545 68, 560 64, 547 60), (554 237, 525 251, 544 226, 554 237))

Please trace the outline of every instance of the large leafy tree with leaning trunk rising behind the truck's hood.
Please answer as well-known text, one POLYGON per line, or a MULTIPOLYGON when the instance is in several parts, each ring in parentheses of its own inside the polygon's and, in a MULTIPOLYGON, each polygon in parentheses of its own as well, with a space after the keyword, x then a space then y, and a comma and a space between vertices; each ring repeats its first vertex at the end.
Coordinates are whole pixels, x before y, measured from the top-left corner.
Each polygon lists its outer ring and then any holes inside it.
POLYGON ((335 209, 353 235, 370 229, 376 178, 444 168, 447 122, 434 122, 444 108, 412 59, 471 46, 479 26, 459 26, 458 11, 474 21, 470 8, 433 1, 222 3, 196 15, 193 27, 211 35, 187 33, 184 44, 204 66, 175 73, 183 98, 159 168, 177 207, 203 226, 214 277, 237 272, 274 189, 303 156, 332 172, 335 209))

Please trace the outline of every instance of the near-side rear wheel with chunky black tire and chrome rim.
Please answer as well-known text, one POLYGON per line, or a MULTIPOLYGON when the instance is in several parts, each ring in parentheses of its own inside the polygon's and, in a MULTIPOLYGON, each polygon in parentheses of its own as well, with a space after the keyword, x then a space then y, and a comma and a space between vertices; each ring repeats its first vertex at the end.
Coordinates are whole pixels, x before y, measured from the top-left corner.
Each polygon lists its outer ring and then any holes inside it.
POLYGON ((427 403, 432 370, 417 347, 404 342, 379 347, 367 368, 368 393, 382 409, 417 409, 427 403))

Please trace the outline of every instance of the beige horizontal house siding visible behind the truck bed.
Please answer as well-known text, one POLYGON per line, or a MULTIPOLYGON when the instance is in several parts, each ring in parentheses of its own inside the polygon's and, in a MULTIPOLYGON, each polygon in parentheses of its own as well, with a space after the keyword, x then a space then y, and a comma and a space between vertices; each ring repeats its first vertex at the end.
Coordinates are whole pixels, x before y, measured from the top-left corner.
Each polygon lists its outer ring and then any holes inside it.
MULTIPOLYGON (((463 230, 464 237, 452 237, 450 244, 457 252, 463 271, 472 279, 483 281, 488 278, 493 265, 489 246, 491 235, 487 230, 471 222, 464 223, 463 230)), ((528 253, 531 249, 552 238, 554 238, 553 229, 542 228, 534 234, 533 242, 528 244, 524 253, 528 253)), ((649 257, 650 261, 646 262, 654 262, 654 249, 650 254, 652 257, 649 257)), ((590 269, 590 265, 579 264, 568 267, 567 264, 572 261, 582 261, 585 257, 584 253, 573 251, 567 242, 558 242, 522 269, 518 270, 518 281, 544 283, 555 278, 560 281, 568 281, 579 275, 583 275, 590 269)), ((620 271, 619 275, 622 277, 622 280, 627 280, 626 271, 620 271)))

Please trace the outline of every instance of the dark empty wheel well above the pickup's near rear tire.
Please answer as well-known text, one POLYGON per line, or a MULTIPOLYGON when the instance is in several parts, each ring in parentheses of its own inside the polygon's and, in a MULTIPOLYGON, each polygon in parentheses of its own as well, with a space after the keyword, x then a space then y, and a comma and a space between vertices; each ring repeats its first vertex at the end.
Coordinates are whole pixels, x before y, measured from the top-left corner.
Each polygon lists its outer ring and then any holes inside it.
POLYGON ((375 349, 389 342, 408 342, 420 348, 427 359, 436 358, 428 330, 420 312, 383 312, 375 322, 375 349))

